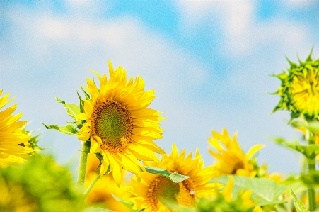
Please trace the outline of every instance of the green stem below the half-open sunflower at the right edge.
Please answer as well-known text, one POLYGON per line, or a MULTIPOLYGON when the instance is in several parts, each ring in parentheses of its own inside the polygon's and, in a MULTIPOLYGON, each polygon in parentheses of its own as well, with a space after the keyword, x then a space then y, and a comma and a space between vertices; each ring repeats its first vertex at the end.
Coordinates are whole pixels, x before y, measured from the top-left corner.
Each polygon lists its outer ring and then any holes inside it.
MULTIPOLYGON (((308 141, 308 144, 314 144, 314 140, 311 138, 311 133, 309 130, 306 130, 305 139, 308 141)), ((315 171, 315 158, 308 158, 308 173, 315 171)), ((309 196, 309 211, 315 210, 315 189, 313 187, 308 187, 308 196, 309 196)))

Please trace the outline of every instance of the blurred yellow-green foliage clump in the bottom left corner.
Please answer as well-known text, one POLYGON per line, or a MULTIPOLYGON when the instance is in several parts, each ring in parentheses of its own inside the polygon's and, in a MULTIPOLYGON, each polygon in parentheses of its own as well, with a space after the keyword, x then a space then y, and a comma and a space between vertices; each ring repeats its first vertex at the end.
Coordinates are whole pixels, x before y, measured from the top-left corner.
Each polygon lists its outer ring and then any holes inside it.
POLYGON ((0 211, 79 212, 82 194, 71 173, 51 157, 35 155, 19 167, 0 169, 0 211))

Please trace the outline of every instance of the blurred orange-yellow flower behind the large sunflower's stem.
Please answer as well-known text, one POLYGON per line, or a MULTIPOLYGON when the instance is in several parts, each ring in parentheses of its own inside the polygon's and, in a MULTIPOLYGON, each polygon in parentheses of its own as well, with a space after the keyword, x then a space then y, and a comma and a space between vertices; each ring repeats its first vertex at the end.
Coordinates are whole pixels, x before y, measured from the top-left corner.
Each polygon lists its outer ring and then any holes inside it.
MULTIPOLYGON (((86 166, 86 187, 88 187, 93 180, 98 177, 99 160, 95 155, 88 154, 88 162, 86 166)), ((112 194, 115 196, 120 196, 121 199, 128 199, 130 195, 117 187, 114 179, 110 174, 106 174, 95 183, 93 189, 86 197, 85 202, 91 206, 100 206, 101 208, 108 208, 113 211, 129 212, 129 208, 124 206, 120 201, 116 201, 112 194)))

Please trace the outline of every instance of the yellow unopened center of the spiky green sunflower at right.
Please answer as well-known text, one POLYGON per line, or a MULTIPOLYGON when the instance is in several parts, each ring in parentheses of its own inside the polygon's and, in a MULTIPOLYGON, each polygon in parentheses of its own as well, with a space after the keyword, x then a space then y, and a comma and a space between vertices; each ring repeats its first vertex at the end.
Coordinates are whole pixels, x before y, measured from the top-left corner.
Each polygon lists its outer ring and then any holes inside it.
POLYGON ((291 84, 294 106, 299 111, 319 112, 319 75, 315 69, 308 70, 305 75, 297 75, 291 84))

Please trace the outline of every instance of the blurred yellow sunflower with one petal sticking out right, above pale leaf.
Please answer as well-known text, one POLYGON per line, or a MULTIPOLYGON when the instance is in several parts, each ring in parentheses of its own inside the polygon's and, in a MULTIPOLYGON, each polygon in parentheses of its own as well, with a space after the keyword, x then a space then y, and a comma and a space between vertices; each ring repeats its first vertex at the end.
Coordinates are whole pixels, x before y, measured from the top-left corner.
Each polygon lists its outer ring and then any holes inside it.
POLYGON ((254 170, 250 158, 260 150, 264 145, 255 145, 250 148, 245 155, 243 150, 237 143, 236 135, 233 135, 233 140, 228 135, 227 130, 224 128, 223 133, 219 134, 212 131, 213 138, 208 138, 209 143, 217 152, 209 148, 210 154, 218 160, 215 163, 217 176, 236 174, 239 176, 255 177, 257 171, 254 170))

